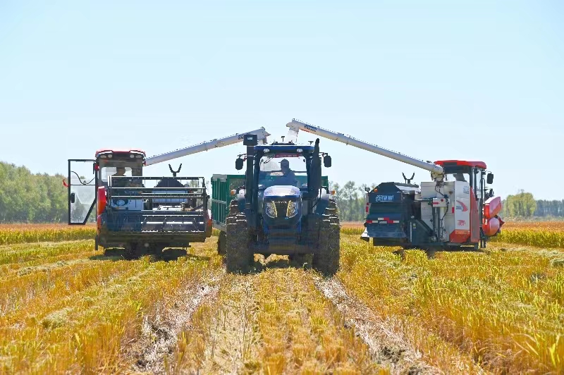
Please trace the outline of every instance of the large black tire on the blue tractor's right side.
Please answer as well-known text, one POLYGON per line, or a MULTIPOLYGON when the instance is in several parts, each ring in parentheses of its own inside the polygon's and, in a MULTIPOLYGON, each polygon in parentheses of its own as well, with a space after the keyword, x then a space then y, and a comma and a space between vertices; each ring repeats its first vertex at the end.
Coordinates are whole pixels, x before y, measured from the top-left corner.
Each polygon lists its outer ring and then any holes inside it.
POLYGON ((338 208, 335 201, 329 201, 329 207, 319 226, 319 247, 313 256, 312 266, 325 276, 333 276, 339 269, 341 230, 338 208))

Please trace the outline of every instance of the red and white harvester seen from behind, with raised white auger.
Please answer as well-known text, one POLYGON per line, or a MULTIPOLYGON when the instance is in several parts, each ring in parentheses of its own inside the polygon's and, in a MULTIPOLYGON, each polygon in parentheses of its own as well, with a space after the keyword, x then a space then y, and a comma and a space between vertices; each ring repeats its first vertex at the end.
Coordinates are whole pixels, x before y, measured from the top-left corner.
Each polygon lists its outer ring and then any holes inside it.
POLYGON ((503 225, 498 216, 501 198, 486 189, 486 183, 494 182, 494 175, 486 174, 483 161, 432 163, 295 119, 286 126, 293 135, 304 130, 431 173, 433 181, 421 183, 421 187, 404 176, 405 183, 381 183, 367 191, 366 229, 361 238, 372 238, 374 246, 486 247, 488 238, 503 225))

